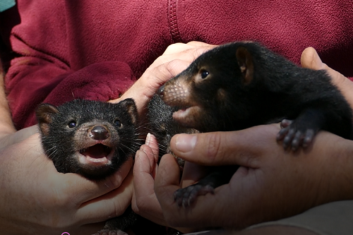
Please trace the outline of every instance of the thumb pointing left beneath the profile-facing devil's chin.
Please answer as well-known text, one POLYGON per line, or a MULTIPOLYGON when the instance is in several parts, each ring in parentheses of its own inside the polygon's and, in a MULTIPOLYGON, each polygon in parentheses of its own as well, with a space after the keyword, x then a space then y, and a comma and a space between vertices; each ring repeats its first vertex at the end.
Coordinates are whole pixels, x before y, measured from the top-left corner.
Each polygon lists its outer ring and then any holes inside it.
POLYGON ((257 168, 266 147, 276 145, 278 124, 255 126, 242 131, 174 135, 170 145, 175 155, 204 165, 239 164, 257 168))

